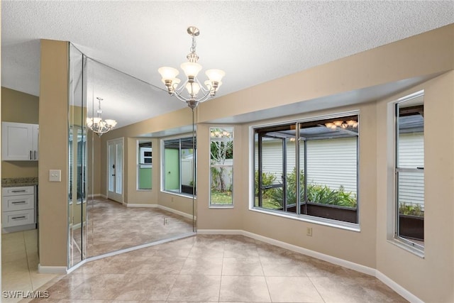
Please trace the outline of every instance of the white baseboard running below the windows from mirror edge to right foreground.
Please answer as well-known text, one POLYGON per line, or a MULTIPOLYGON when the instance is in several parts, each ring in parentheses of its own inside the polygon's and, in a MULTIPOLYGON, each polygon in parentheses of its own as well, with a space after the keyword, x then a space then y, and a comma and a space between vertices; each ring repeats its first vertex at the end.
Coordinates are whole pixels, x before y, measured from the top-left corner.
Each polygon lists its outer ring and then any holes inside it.
POLYGON ((242 230, 236 230, 236 229, 231 229, 231 230, 225 230, 225 229, 198 229, 197 233, 200 235, 242 235, 242 236, 247 236, 249 238, 253 238, 258 241, 262 241, 268 244, 272 244, 274 246, 279 246, 281 248, 286 248, 288 250, 292 250, 297 253, 301 253, 303 255, 309 255, 310 257, 317 258, 319 260, 323 260, 329 263, 333 263, 336 265, 343 266, 344 268, 349 268, 351 270, 355 270, 358 272, 365 273, 366 275, 372 275, 374 277, 377 277, 378 280, 382 281, 384 284, 386 284, 388 287, 390 287, 394 292, 397 292, 400 294, 404 299, 408 300, 409 302, 414 302, 414 303, 423 303, 421 299, 416 297, 414 294, 406 290, 404 287, 401 285, 397 284, 393 280, 389 279, 386 275, 384 275, 382 272, 376 270, 375 268, 370 268, 365 265, 360 265, 358 263, 353 263, 348 260, 343 260, 341 258, 336 258, 331 255, 325 255, 323 253, 316 252, 314 250, 309 250, 306 248, 302 248, 299 246, 294 246, 289 243, 285 243, 282 241, 277 241, 272 238, 267 238, 265 236, 260 236, 256 233, 250 233, 248 231, 242 231, 242 230))

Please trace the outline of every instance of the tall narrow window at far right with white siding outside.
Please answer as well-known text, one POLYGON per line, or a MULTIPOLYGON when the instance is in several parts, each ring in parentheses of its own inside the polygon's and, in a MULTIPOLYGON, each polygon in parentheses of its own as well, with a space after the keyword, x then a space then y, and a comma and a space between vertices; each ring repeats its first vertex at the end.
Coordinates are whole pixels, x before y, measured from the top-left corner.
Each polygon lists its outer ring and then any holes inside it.
POLYGON ((394 236, 419 250, 424 247, 423 92, 395 104, 394 236))

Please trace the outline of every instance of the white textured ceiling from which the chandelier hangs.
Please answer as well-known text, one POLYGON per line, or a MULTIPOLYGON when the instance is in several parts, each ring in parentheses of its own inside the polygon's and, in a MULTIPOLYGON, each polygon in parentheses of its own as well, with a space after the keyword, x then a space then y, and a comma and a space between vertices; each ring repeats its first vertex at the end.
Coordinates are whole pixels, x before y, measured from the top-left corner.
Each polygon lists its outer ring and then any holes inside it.
MULTIPOLYGON (((204 70, 226 71, 222 95, 449 23, 454 1, 1 1, 1 84, 38 96, 39 39, 67 40, 152 84, 145 99, 134 89, 121 94, 123 110, 135 114, 114 119, 126 125, 185 106, 153 86, 162 87, 158 67, 186 61, 188 26, 201 31, 204 70), (163 100, 170 105, 160 106, 163 100), (138 111, 135 101, 150 107, 138 111)), ((120 102, 104 80, 96 94, 120 102)))

